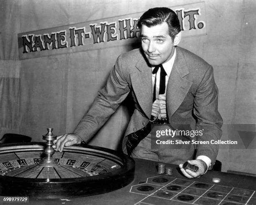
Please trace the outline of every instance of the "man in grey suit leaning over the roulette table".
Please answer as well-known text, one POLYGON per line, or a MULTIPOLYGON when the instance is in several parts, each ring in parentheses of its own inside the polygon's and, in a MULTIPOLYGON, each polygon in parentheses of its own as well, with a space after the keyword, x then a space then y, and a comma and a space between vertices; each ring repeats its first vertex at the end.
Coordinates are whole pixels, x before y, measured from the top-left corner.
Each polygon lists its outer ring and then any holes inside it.
POLYGON ((186 177, 200 177, 215 163, 218 145, 199 144, 197 151, 191 145, 186 149, 153 148, 151 124, 189 124, 203 132, 200 141, 220 139, 222 119, 212 66, 177 46, 181 30, 171 9, 149 9, 138 26, 142 49, 118 57, 90 110, 74 133, 57 138, 56 150, 62 152, 64 147, 87 142, 131 92, 135 110, 125 132, 123 151, 132 157, 179 164, 186 177), (184 170, 182 163, 187 160, 199 170, 184 170))

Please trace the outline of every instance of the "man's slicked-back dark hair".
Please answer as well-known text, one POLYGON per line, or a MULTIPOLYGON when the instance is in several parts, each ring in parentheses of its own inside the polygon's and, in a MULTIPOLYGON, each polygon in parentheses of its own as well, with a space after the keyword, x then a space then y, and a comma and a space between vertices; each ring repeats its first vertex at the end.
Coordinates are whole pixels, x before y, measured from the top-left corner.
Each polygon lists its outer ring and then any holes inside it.
POLYGON ((166 22, 169 28, 169 35, 174 39, 175 35, 180 32, 180 24, 177 14, 166 7, 156 7, 147 10, 138 21, 138 27, 142 25, 147 27, 159 25, 166 22))

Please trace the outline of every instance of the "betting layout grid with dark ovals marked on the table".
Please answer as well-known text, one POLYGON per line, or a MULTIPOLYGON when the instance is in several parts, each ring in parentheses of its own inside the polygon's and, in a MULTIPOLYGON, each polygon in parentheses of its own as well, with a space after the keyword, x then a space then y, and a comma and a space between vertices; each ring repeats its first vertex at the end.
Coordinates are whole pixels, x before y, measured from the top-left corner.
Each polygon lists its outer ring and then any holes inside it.
POLYGON ((147 178, 131 193, 145 195, 135 205, 256 205, 255 190, 183 180, 167 176, 147 178))

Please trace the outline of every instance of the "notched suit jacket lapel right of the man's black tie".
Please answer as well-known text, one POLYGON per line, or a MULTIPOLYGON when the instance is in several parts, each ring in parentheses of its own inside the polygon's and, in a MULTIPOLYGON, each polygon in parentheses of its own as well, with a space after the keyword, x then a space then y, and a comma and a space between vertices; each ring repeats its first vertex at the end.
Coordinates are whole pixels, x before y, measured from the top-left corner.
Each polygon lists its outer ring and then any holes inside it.
POLYGON ((179 47, 176 47, 176 52, 176 58, 166 89, 166 106, 169 118, 182 104, 192 85, 191 81, 184 78, 189 74, 185 57, 179 47))

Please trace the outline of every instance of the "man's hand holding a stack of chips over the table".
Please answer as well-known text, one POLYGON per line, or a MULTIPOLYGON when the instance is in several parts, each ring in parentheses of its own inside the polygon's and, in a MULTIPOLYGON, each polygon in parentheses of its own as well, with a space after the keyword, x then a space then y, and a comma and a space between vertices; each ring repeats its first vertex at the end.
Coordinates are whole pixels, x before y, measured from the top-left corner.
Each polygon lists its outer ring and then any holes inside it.
POLYGON ((192 178, 198 178, 198 177, 201 177, 202 175, 205 174, 206 170, 207 170, 207 165, 204 161, 202 161, 201 159, 195 159, 195 160, 188 160, 187 161, 190 165, 195 165, 198 167, 198 170, 197 172, 193 172, 191 170, 184 170, 182 168, 183 164, 180 164, 179 165, 179 168, 180 170, 182 171, 183 175, 189 179, 192 179, 192 178))

